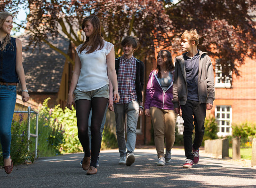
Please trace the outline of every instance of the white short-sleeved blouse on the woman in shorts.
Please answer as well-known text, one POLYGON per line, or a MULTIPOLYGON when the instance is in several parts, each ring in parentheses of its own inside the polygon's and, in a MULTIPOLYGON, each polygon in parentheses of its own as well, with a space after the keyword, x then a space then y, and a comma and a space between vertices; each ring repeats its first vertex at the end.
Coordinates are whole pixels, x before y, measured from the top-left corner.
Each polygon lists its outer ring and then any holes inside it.
POLYGON ((110 53, 113 46, 112 43, 104 40, 104 47, 90 54, 86 54, 86 49, 79 53, 82 44, 76 48, 81 61, 80 76, 76 86, 77 90, 84 92, 92 91, 109 83, 106 56, 110 53))

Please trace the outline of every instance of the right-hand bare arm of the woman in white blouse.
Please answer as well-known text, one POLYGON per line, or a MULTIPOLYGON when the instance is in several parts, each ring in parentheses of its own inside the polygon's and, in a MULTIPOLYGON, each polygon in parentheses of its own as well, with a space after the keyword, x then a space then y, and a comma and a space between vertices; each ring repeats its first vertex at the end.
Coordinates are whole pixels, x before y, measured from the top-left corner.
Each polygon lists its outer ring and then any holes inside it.
POLYGON ((114 47, 112 47, 110 53, 106 56, 107 59, 107 67, 108 67, 108 77, 111 80, 114 93, 113 93, 113 102, 119 102, 120 96, 118 94, 118 86, 117 86, 117 76, 115 70, 115 52, 114 47))

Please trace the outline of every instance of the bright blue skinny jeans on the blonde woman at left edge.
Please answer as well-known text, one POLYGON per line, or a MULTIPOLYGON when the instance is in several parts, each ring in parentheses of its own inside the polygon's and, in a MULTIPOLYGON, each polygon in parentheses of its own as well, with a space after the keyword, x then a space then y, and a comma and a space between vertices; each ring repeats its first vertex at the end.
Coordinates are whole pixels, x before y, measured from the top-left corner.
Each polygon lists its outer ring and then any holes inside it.
POLYGON ((16 86, 0 85, 0 141, 5 159, 10 155, 11 125, 15 103, 16 86))

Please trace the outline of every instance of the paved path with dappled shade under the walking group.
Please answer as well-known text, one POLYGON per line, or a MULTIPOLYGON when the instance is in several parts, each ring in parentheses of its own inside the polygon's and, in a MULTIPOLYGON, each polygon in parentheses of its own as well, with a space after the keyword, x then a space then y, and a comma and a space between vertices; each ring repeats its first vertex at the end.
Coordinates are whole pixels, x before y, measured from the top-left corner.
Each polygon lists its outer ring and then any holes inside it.
POLYGON ((200 152, 199 164, 184 169, 184 149, 173 149, 171 163, 157 166, 155 149, 135 151, 131 166, 118 164, 117 149, 101 151, 96 175, 82 170, 82 153, 43 157, 33 164, 15 166, 9 175, 0 169, 0 188, 256 187, 256 167, 209 158, 200 152))

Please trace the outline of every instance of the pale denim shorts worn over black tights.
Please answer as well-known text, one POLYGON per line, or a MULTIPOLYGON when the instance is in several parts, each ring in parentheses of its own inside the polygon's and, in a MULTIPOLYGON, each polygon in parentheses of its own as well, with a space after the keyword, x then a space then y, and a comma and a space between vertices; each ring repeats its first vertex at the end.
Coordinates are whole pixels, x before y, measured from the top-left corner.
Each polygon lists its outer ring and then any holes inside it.
POLYGON ((106 84, 105 86, 92 91, 79 91, 75 89, 74 94, 75 94, 75 101, 80 99, 86 99, 91 101, 92 98, 94 97, 103 97, 103 98, 109 99, 109 86, 108 84, 106 84))

